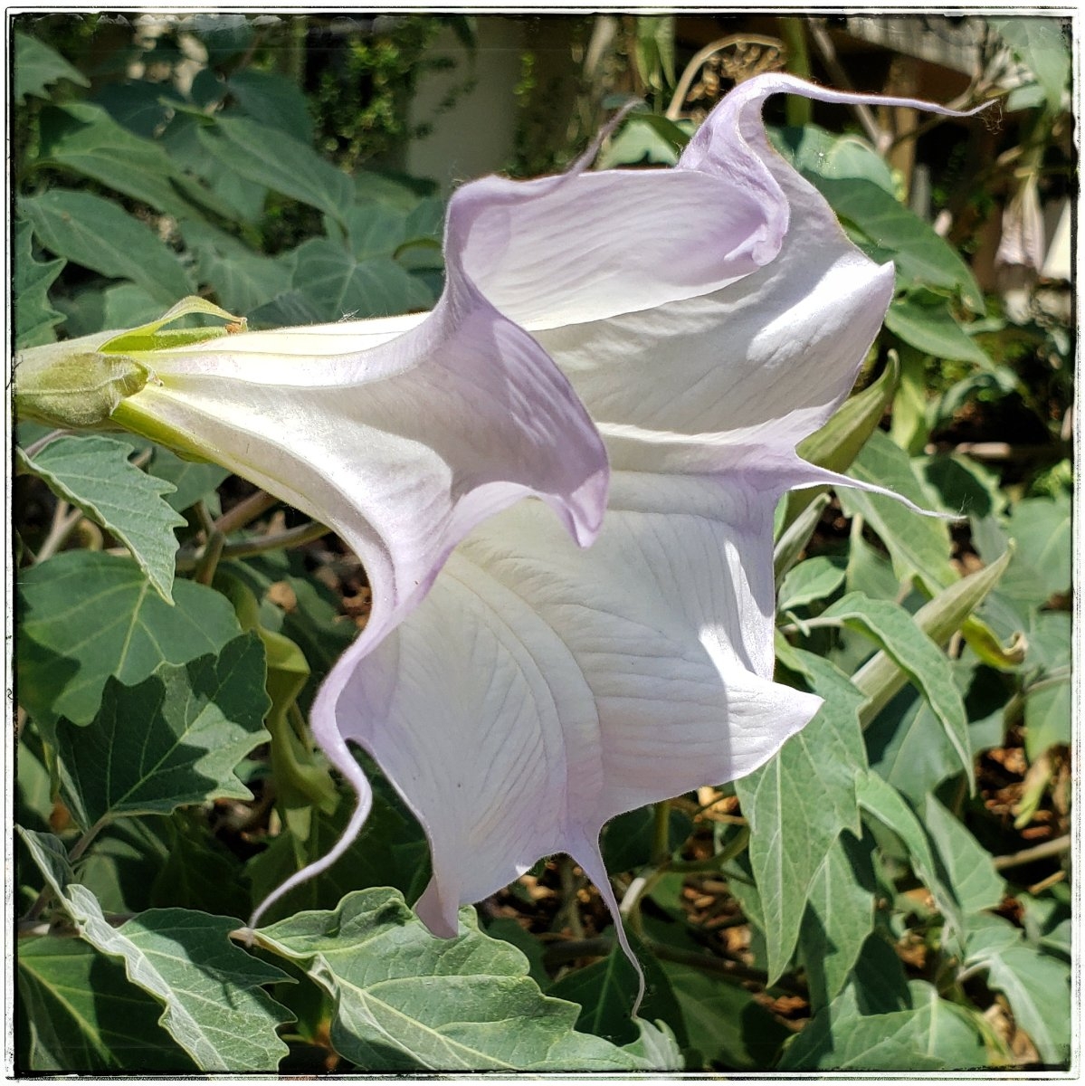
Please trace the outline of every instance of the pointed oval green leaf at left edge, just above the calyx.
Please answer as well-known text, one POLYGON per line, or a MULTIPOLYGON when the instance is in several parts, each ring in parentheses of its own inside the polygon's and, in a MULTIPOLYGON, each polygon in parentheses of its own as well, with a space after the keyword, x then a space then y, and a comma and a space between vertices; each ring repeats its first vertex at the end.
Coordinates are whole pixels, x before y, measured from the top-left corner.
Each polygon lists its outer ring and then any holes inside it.
POLYGON ((165 305, 191 293, 176 255, 150 227, 90 192, 49 189, 18 201, 50 252, 109 278, 130 279, 165 305))

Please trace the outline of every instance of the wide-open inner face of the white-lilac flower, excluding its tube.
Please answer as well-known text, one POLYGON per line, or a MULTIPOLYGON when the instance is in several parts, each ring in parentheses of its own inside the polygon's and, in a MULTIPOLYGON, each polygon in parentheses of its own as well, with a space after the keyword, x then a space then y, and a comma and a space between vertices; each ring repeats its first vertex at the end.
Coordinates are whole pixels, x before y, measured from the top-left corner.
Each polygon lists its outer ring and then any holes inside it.
POLYGON ((530 206, 565 216, 552 223, 516 216, 528 186, 489 182, 505 202, 491 203, 477 275, 500 270, 496 304, 568 375, 615 472, 590 551, 531 503, 480 525, 418 609, 375 649, 349 652, 314 705, 337 762, 348 742, 368 749, 426 828, 434 875, 419 913, 434 931, 558 850, 617 919, 603 823, 752 771, 817 708, 771 681, 771 516, 785 490, 831 477, 795 446, 847 395, 893 268, 863 256, 768 146, 760 106, 781 90, 861 100, 749 80, 674 171, 531 182, 530 206), (665 193, 646 226, 641 178, 665 193), (607 212, 609 240, 596 229, 607 212), (699 281, 673 266, 671 239, 699 281))

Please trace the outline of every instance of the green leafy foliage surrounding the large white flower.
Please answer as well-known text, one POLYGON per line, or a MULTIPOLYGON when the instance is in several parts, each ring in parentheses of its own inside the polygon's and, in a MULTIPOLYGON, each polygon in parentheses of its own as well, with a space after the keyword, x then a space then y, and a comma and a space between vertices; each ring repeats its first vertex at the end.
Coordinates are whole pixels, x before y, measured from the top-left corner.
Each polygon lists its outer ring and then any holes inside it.
MULTIPOLYGON (((431 305, 443 203, 389 165, 417 135, 404 103, 418 73, 447 67, 441 29, 17 23, 18 345, 136 326, 191 293, 253 327, 431 305)), ((806 21, 768 45, 729 39, 714 55, 731 67, 703 62, 680 94, 673 20, 568 30, 582 63, 567 142, 530 138, 526 50, 514 172, 568 161, 608 96, 647 104, 602 164, 651 165, 674 161, 729 78, 838 76, 811 61, 806 21)), ((457 939, 430 937, 408 908, 425 839, 371 766, 374 813, 350 854, 240 939, 349 815, 304 718, 364 621, 364 572, 333 540, 272 547, 297 514, 214 466, 20 427, 23 1072, 1065 1065, 1069 295, 1034 275, 1010 304, 970 253, 1029 186, 1068 191, 1069 47, 1051 20, 985 34, 966 97, 1000 99, 1006 146, 976 176, 952 148, 987 122, 934 123, 956 135, 924 215, 901 202, 918 175, 861 118, 829 111, 830 130, 773 105, 780 151, 897 266, 862 391, 803 452, 964 519, 851 491, 781 503, 778 674, 825 706, 752 776, 606 829, 644 1021, 605 910, 564 858, 465 909, 457 939)))

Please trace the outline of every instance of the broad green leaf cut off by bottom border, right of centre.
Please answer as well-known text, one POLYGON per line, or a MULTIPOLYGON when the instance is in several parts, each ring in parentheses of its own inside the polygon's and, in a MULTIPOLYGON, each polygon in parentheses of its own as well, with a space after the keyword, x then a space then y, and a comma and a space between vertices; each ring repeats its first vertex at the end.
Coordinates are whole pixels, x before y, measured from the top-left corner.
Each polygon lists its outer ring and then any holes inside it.
POLYGON ((923 981, 909 985, 912 1006, 860 1014, 849 989, 817 1014, 784 1051, 780 1071, 972 1071, 987 1065, 968 1013, 923 981))

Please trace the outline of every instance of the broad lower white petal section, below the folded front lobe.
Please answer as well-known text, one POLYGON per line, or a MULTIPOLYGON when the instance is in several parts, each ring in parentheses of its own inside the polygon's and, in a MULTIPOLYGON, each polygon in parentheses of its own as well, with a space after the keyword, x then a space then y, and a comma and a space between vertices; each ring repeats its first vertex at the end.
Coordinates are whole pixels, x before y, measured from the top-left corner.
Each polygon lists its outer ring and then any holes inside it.
POLYGON ((317 734, 367 749, 426 829, 418 908, 439 934, 541 856, 598 872, 608 819, 750 772, 817 710, 771 681, 774 495, 668 489, 683 512, 659 509, 658 479, 616 476, 583 552, 535 503, 480 526, 314 706, 317 734))

